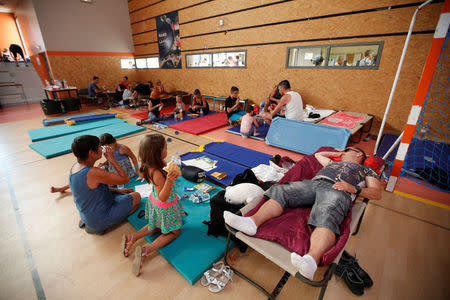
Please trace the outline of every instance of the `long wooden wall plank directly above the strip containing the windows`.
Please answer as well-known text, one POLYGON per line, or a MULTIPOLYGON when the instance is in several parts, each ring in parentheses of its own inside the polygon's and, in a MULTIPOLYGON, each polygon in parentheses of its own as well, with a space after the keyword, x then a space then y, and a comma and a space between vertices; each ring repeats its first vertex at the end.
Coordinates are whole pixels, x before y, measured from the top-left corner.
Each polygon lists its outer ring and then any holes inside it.
MULTIPOLYGON (((182 38, 181 45, 182 50, 190 50, 203 48, 204 45, 227 47, 264 42, 406 32, 413 13, 413 8, 403 8, 308 22, 279 24, 264 28, 232 31, 227 34, 182 38)), ((414 29, 433 30, 439 19, 439 14, 438 10, 424 10, 414 29)), ((183 36, 182 28, 180 32, 183 36)))

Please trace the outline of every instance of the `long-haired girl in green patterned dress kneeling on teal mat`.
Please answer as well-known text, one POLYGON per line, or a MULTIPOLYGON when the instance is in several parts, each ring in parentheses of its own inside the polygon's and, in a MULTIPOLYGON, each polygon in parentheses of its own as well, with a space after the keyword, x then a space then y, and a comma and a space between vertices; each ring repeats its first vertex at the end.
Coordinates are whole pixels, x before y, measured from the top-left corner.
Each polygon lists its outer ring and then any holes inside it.
POLYGON ((136 247, 132 265, 132 272, 136 276, 140 273, 145 257, 176 239, 183 225, 183 208, 174 185, 181 172, 178 167, 172 168, 170 165, 168 172, 164 171, 166 157, 167 143, 161 134, 148 134, 141 140, 140 172, 153 188, 145 204, 145 218, 148 219, 148 224, 134 234, 123 235, 121 243, 123 255, 128 257, 130 248, 139 239, 155 232, 160 232, 161 235, 147 246, 136 247))

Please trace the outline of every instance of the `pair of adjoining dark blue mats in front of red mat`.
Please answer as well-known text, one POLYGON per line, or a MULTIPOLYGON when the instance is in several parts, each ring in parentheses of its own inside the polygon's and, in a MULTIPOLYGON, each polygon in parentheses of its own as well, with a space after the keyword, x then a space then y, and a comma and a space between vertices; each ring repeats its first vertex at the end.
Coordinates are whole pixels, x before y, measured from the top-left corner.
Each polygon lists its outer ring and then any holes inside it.
POLYGON ((199 150, 188 152, 180 156, 182 161, 206 156, 216 160, 216 167, 205 174, 211 180, 228 186, 234 177, 246 169, 254 168, 260 164, 269 164, 271 155, 247 149, 227 142, 212 142, 199 150), (212 173, 226 173, 226 177, 218 179, 212 176, 212 173))

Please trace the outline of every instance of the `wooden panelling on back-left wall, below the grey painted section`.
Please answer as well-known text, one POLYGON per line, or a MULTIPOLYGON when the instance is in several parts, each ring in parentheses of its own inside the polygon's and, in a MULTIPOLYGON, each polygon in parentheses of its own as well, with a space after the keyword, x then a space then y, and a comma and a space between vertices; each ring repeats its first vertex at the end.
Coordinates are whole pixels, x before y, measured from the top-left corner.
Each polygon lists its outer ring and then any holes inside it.
POLYGON ((88 87, 92 76, 96 75, 100 77, 100 85, 106 86, 109 90, 115 90, 123 76, 128 76, 130 81, 135 81, 137 78, 136 70, 120 68, 120 58, 118 56, 48 56, 54 78, 65 79, 70 86, 83 89, 88 87))

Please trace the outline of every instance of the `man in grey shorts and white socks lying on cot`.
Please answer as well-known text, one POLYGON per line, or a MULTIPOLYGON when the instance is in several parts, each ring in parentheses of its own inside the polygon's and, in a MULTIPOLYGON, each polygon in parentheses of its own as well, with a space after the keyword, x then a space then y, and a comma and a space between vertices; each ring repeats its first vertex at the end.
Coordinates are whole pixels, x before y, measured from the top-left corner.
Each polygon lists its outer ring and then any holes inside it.
POLYGON ((251 217, 240 217, 225 211, 225 223, 247 235, 255 235, 258 226, 278 217, 285 208, 311 207, 308 224, 314 228, 306 255, 291 253, 291 263, 300 274, 313 280, 322 256, 333 247, 340 235, 339 225, 359 195, 379 200, 381 184, 377 173, 362 165, 366 154, 359 148, 342 152, 318 152, 315 157, 324 166, 312 180, 273 185, 266 191, 270 198, 251 217), (340 162, 330 159, 341 156, 340 162))

